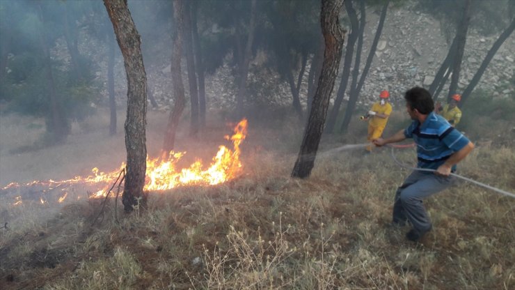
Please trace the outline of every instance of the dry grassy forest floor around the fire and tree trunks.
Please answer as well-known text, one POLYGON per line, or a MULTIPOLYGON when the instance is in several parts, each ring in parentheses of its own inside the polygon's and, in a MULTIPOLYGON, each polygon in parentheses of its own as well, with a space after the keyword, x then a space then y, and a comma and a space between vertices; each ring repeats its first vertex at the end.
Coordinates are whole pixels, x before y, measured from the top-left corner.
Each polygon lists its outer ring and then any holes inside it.
MULTIPOLYGON (((393 114, 385 134, 403 128, 405 115, 393 114)), ((166 119, 149 112, 149 155, 159 152, 166 119)), ((62 204, 51 184, 1 188, 116 170, 125 160, 122 124, 109 137, 109 116, 100 112, 74 124, 65 144, 40 148, 42 121, 1 115, 0 289, 515 287, 515 199, 459 182, 425 201, 433 230, 407 241, 409 227, 389 226, 395 189, 409 174, 390 150, 321 154, 310 178, 291 178, 303 133, 295 120, 249 120, 243 169, 232 181, 149 192, 147 208, 130 214, 109 199, 92 225, 102 208, 87 198, 94 188, 75 188, 62 204)), ((232 127, 208 123, 193 139, 184 119, 177 149, 210 160, 232 127)), ((514 192, 515 147, 506 140, 515 133, 506 126, 489 125, 488 136, 473 139, 459 174, 514 192)), ((347 135, 324 137, 319 152, 364 143, 365 130, 356 122, 347 135)), ((395 154, 413 165, 413 148, 395 154)))

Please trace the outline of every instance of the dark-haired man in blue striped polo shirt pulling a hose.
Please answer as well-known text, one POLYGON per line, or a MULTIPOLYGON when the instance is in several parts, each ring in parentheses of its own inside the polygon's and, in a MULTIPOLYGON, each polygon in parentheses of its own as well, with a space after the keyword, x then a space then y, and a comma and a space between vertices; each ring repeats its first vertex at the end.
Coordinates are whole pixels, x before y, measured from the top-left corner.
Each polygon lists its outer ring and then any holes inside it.
POLYGON ((395 193, 393 224, 402 226, 407 221, 411 222, 413 229, 406 234, 406 238, 419 241, 431 230, 431 221, 422 199, 454 183, 456 178, 450 173, 456 171, 457 163, 473 150, 474 144, 433 112, 433 98, 426 89, 415 86, 406 91, 404 99, 406 110, 413 120, 411 125, 392 137, 374 139, 372 142, 383 146, 413 138, 417 145, 417 167, 433 170, 414 170, 395 193))

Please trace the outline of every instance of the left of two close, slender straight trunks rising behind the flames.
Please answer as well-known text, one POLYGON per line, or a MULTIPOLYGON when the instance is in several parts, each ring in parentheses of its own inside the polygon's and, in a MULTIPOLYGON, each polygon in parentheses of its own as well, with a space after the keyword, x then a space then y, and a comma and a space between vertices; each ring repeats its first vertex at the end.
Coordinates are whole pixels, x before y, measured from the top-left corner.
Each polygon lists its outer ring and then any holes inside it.
POLYGON ((197 75, 195 73, 195 59, 193 59, 193 39, 191 31, 191 2, 184 2, 184 49, 186 49, 186 67, 188 72, 189 99, 191 103, 191 119, 189 135, 198 133, 198 90, 197 75))

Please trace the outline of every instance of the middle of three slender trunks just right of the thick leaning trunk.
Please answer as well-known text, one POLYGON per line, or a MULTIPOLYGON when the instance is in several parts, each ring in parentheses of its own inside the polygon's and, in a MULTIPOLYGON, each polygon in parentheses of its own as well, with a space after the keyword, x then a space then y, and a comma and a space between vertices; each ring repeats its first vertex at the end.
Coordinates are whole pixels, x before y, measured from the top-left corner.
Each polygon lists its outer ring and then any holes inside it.
POLYGON ((360 29, 358 36, 358 47, 356 47, 356 59, 354 60, 354 68, 352 70, 352 82, 351 82, 351 91, 349 95, 349 102, 347 103, 347 107, 345 108, 345 114, 343 117, 342 124, 340 125, 340 132, 344 133, 349 128, 349 123, 351 123, 352 112, 354 112, 354 108, 356 107, 356 101, 358 100, 359 94, 356 93, 358 89, 358 77, 359 77, 359 66, 361 63, 361 52, 363 52, 363 31, 365 31, 365 1, 360 1, 360 29))

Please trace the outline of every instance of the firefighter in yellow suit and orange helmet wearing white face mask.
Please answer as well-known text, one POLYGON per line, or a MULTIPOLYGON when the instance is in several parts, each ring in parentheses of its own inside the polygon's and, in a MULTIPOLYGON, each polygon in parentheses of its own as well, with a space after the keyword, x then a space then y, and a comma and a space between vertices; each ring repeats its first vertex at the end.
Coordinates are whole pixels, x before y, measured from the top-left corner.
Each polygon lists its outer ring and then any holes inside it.
MULTIPOLYGON (((372 109, 368 111, 367 119, 369 121, 367 140, 369 142, 372 142, 372 140, 383 135, 383 130, 388 122, 388 117, 392 113, 392 105, 388 102, 388 97, 390 97, 390 93, 388 93, 388 91, 381 91, 381 93, 379 93, 379 102, 374 102, 372 109)), ((372 148, 374 148, 374 145, 370 144, 370 146, 367 146, 367 151, 372 152, 372 148)))

